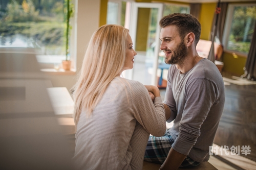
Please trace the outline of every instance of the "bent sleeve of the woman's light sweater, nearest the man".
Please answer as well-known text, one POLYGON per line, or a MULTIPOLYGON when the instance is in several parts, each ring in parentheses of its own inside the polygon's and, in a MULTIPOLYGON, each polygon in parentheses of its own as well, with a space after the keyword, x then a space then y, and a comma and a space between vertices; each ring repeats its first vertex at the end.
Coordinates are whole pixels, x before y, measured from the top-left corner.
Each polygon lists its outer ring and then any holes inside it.
POLYGON ((133 88, 134 117, 139 124, 153 136, 163 136, 166 131, 165 110, 161 97, 152 102, 145 86, 136 82, 133 88))

